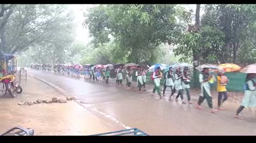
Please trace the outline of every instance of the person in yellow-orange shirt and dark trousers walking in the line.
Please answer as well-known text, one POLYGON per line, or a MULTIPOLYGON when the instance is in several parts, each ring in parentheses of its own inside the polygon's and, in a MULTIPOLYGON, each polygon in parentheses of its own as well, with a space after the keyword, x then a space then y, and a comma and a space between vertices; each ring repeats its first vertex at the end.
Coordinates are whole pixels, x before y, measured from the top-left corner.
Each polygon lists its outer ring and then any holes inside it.
POLYGON ((224 75, 223 71, 220 71, 217 76, 217 92, 218 92, 218 108, 219 110, 225 110, 221 108, 221 103, 228 99, 226 85, 228 83, 227 77, 224 75), (224 99, 222 100, 222 95, 224 99), (222 100, 222 101, 221 101, 222 100))

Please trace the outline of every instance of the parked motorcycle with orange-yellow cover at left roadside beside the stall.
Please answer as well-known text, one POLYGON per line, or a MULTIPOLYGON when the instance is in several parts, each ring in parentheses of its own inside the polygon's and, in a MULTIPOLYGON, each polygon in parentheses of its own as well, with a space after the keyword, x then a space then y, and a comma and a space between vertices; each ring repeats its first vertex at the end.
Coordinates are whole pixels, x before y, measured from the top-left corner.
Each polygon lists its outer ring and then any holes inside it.
MULTIPOLYGON (((3 77, 1 81, 2 83, 4 83, 4 86, 6 87, 5 91, 8 91, 11 97, 15 98, 15 92, 22 93, 23 90, 20 86, 20 82, 15 82, 14 75, 7 75, 6 77, 3 77)), ((4 95, 6 95, 6 93, 4 95)))

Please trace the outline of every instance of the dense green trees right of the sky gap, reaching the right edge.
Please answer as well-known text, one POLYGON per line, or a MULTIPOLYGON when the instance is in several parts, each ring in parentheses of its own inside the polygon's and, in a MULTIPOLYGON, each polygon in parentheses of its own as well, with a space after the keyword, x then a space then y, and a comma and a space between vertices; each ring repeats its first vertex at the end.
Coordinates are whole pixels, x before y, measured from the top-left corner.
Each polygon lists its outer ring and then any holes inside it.
POLYGON ((256 5, 206 4, 194 25, 192 11, 181 5, 99 5, 85 13, 83 24, 94 48, 111 43, 116 59, 127 62, 157 61, 165 56, 157 54, 159 45, 168 43, 177 45, 180 61, 197 55, 201 63, 255 63, 255 11, 256 5))

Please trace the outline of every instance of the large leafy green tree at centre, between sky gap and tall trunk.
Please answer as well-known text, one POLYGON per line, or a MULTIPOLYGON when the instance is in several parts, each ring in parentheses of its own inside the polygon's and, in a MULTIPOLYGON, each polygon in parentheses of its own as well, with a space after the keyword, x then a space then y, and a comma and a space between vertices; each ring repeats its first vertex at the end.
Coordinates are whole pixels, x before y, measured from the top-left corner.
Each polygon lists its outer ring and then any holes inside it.
MULTIPOLYGON (((127 62, 153 62, 162 43, 175 43, 175 36, 185 30, 187 16, 177 5, 99 5, 85 14, 83 25, 88 27, 96 47, 114 37, 118 50, 127 54, 127 62)), ((118 53, 120 54, 120 53, 118 53)), ((118 56, 123 56, 118 55, 118 56)))

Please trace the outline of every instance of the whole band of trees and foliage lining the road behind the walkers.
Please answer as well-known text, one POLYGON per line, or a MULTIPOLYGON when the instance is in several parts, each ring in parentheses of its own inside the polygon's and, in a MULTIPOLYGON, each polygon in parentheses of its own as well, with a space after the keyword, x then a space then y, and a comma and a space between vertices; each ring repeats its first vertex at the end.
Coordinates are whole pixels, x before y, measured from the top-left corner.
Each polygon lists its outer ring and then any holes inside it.
POLYGON ((3 50, 38 63, 256 63, 256 5, 197 4, 195 13, 185 6, 94 6, 84 13, 92 40, 83 45, 73 43, 64 6, 2 5, 3 50))

